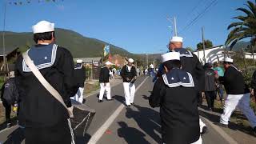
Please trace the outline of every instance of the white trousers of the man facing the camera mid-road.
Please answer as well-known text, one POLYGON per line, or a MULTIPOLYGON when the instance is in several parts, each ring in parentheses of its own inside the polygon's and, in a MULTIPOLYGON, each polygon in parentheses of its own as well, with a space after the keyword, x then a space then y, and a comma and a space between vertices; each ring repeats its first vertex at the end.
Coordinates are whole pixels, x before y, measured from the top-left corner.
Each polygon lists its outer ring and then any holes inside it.
POLYGON ((123 89, 125 91, 126 105, 134 102, 135 85, 130 82, 123 82, 123 89))

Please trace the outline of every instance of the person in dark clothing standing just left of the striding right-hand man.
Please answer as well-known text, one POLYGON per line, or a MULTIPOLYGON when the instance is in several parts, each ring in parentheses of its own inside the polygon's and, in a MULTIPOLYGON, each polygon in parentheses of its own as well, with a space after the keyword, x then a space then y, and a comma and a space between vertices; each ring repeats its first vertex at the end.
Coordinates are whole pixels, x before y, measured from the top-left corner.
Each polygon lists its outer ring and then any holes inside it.
POLYGON ((216 98, 215 73, 210 63, 205 64, 205 95, 210 111, 214 110, 214 100, 216 98))

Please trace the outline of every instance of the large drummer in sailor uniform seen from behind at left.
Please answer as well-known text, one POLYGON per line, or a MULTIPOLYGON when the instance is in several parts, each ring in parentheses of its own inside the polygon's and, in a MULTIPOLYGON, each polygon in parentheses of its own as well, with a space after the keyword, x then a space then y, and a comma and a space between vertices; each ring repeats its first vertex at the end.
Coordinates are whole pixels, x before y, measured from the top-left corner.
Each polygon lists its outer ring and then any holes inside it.
MULTIPOLYGON (((58 90, 67 107, 78 90, 74 81, 74 62, 69 50, 54 43, 54 23, 41 21, 33 26, 34 42, 28 55, 46 81, 58 90)), ((69 114, 26 65, 22 55, 16 62, 18 121, 25 126, 26 144, 74 143, 69 114)))

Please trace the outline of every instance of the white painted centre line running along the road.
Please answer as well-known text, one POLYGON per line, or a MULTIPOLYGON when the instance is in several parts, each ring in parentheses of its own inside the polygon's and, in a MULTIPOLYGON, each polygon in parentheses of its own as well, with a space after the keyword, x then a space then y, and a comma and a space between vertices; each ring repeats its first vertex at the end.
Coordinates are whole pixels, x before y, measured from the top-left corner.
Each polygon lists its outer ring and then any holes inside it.
MULTIPOLYGON (((142 83, 137 87, 135 92, 143 85, 144 82, 146 82, 146 79, 149 77, 146 77, 142 83)), ((102 135, 105 133, 105 131, 110 127, 112 122, 114 122, 114 119, 118 117, 118 115, 121 113, 122 109, 125 106, 121 104, 117 110, 114 111, 114 113, 106 120, 106 122, 94 133, 94 135, 90 138, 90 141, 87 144, 95 144, 98 142, 99 138, 102 137, 102 135)))

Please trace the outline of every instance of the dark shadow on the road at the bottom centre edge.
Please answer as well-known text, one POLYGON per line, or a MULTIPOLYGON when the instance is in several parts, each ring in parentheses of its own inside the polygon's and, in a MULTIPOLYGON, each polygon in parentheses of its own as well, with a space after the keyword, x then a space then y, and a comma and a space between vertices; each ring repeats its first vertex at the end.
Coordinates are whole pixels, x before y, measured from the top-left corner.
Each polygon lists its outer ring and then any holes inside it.
POLYGON ((140 130, 129 127, 126 122, 118 122, 118 125, 121 126, 118 129, 118 136, 124 138, 127 143, 150 144, 150 142, 146 141, 144 138, 146 134, 143 134, 140 130))

